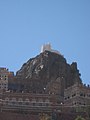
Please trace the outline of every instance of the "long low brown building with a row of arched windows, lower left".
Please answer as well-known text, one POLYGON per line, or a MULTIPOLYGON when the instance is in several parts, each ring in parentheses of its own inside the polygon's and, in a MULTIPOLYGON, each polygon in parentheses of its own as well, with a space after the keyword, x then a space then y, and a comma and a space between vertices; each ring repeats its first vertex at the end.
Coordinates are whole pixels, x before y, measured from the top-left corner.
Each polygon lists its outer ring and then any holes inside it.
POLYGON ((18 109, 19 107, 23 107, 23 109, 34 109, 38 107, 52 110, 54 106, 57 106, 57 99, 55 95, 48 94, 4 92, 0 94, 0 105, 2 108, 12 109, 18 109))

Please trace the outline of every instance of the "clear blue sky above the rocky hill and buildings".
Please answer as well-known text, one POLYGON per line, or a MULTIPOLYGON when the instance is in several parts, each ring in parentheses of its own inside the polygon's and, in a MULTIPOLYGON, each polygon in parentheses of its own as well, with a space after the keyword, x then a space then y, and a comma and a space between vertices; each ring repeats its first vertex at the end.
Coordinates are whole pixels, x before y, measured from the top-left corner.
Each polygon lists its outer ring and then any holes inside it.
POLYGON ((16 72, 50 42, 90 83, 90 0, 0 0, 0 67, 16 72))

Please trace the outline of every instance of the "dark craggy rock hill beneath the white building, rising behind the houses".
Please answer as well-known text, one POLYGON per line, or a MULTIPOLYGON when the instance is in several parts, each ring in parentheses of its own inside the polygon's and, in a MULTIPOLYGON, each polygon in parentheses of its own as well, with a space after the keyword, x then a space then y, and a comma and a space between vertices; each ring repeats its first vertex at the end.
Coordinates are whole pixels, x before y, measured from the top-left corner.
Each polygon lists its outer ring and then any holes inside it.
POLYGON ((15 81, 19 90, 63 96, 64 88, 81 79, 76 62, 69 65, 62 55, 45 51, 24 63, 15 81))

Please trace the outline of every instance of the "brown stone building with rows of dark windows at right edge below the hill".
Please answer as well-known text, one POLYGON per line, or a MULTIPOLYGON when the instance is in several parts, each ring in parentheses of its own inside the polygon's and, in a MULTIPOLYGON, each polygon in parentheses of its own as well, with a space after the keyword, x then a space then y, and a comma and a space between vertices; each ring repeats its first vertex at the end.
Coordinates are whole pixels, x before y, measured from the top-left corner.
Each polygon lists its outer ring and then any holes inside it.
POLYGON ((88 106, 90 105, 90 86, 83 84, 74 84, 65 89, 64 103, 71 106, 88 106))

